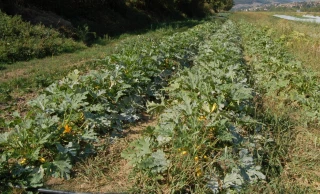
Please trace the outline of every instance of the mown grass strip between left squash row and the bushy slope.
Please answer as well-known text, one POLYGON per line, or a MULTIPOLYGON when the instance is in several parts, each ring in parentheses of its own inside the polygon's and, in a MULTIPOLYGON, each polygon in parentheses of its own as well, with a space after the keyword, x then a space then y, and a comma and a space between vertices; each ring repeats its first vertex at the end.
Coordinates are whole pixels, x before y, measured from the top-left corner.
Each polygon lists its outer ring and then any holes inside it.
MULTIPOLYGON (((145 37, 161 37, 174 32, 184 31, 198 24, 197 20, 161 23, 152 26, 145 37)), ((0 115, 10 117, 14 110, 26 111, 26 101, 54 81, 62 79, 70 71, 79 69, 88 71, 99 66, 97 61, 120 49, 118 44, 134 39, 139 35, 123 34, 118 38, 101 39, 98 43, 74 53, 50 56, 44 59, 32 59, 25 62, 3 64, 0 66, 0 115)))

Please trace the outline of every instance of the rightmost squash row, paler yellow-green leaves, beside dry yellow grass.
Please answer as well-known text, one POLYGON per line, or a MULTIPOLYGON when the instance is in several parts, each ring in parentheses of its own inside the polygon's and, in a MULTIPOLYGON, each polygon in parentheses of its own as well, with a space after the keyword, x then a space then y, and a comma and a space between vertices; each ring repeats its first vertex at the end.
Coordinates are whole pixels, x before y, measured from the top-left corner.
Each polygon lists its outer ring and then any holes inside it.
POLYGON ((320 123, 320 86, 317 72, 307 69, 285 49, 285 40, 272 38, 271 29, 240 22, 254 87, 277 107, 299 112, 304 125, 320 123))

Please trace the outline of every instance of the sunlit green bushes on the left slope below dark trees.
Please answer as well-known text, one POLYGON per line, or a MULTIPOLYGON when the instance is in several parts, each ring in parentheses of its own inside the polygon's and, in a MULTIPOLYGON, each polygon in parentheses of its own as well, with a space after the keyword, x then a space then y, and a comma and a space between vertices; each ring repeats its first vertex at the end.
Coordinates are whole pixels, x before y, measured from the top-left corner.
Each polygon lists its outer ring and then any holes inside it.
POLYGON ((85 48, 82 43, 64 38, 59 32, 23 22, 19 16, 0 11, 0 62, 42 58, 85 48))

